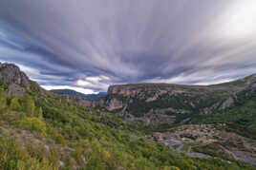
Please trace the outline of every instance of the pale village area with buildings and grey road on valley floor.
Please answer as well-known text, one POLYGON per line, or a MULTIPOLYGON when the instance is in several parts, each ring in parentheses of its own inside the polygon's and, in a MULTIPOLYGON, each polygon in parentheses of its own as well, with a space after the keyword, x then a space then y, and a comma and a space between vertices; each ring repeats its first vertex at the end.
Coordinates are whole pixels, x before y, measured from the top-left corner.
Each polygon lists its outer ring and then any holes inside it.
POLYGON ((224 130, 225 124, 186 124, 157 132, 154 137, 192 158, 223 156, 225 160, 256 164, 256 141, 224 130))

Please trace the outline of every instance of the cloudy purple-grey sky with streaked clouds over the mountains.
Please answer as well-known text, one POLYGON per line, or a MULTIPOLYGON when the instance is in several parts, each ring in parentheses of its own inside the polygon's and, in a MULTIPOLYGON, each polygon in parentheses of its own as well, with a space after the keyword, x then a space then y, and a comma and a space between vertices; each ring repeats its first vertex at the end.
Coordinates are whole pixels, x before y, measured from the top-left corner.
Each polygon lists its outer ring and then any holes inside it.
POLYGON ((255 0, 1 0, 0 62, 46 89, 256 73, 255 0))

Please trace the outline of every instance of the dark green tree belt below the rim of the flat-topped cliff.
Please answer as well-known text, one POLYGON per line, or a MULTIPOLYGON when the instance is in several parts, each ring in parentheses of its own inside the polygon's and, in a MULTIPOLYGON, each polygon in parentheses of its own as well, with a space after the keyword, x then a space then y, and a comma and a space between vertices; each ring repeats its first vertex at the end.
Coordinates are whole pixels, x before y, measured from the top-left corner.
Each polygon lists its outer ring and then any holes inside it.
MULTIPOLYGON (((147 96, 147 98, 150 97, 152 97, 152 95, 147 96)), ((127 109, 129 110, 129 113, 135 115, 136 117, 143 117, 151 109, 168 107, 189 110, 192 114, 198 114, 203 108, 211 107, 213 104, 217 104, 218 102, 225 99, 225 97, 226 96, 223 93, 214 93, 208 91, 199 91, 190 94, 162 94, 158 97, 158 100, 152 102, 146 102, 144 99, 139 99, 139 97, 135 97, 132 98, 133 103, 128 104, 127 109)), ((187 117, 189 116, 190 115, 188 115, 187 117)))

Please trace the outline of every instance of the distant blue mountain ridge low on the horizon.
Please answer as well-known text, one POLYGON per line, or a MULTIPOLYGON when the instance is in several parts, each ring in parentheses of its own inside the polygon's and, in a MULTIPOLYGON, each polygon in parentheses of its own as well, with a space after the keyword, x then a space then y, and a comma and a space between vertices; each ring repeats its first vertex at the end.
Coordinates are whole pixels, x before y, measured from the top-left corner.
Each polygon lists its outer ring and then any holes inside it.
POLYGON ((96 100, 102 96, 107 95, 107 92, 99 92, 98 94, 83 94, 72 89, 53 89, 50 91, 56 94, 67 94, 70 96, 79 96, 83 99, 90 99, 90 100, 96 100))

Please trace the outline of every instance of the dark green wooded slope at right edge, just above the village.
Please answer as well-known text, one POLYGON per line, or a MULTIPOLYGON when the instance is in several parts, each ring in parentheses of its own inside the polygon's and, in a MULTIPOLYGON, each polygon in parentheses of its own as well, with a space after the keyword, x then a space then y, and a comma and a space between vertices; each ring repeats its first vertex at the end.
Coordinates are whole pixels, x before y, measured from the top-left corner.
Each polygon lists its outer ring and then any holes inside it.
POLYGON ((225 123, 227 130, 256 139, 256 90, 246 88, 237 94, 234 107, 195 117, 192 123, 225 123))

